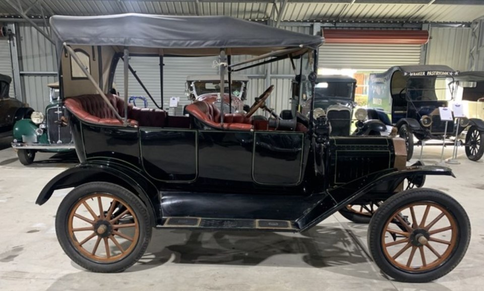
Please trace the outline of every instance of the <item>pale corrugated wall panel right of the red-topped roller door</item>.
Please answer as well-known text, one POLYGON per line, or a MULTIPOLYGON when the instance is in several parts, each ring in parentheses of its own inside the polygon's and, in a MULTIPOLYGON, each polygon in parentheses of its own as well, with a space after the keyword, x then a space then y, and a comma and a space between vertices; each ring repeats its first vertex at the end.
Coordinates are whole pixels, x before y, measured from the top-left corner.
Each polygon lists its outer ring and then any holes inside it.
POLYGON ((467 71, 471 33, 466 27, 431 27, 426 63, 467 71))

